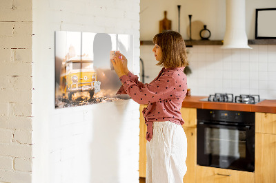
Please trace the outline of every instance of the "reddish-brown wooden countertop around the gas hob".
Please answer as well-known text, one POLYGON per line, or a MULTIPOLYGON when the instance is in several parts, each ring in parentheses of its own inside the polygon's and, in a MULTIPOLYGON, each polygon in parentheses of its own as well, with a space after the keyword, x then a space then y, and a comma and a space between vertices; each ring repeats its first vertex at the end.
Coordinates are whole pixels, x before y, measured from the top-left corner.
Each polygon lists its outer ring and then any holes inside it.
POLYGON ((216 103, 199 101, 208 96, 186 96, 182 107, 190 107, 197 109, 217 109, 229 111, 251 111, 251 112, 267 112, 276 113, 276 100, 263 100, 257 104, 242 104, 242 103, 216 103))

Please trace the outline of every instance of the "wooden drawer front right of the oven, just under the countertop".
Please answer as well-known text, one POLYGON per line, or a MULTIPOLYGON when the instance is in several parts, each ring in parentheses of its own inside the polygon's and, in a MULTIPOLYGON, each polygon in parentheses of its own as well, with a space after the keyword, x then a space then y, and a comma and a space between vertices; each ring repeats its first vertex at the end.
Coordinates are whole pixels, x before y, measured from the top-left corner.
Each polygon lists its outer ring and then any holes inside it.
POLYGON ((256 112, 255 122, 256 133, 276 134, 276 114, 256 112))

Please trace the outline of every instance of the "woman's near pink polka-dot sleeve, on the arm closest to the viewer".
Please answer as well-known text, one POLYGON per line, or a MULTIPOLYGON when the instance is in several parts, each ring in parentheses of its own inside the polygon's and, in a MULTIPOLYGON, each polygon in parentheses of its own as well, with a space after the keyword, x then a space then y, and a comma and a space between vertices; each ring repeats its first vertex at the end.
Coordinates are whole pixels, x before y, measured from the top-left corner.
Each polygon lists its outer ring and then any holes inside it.
POLYGON ((161 103, 161 100, 175 97, 172 90, 175 89, 177 83, 171 74, 161 75, 157 80, 153 80, 152 83, 143 87, 130 80, 126 75, 121 76, 120 80, 124 85, 124 91, 139 104, 155 103, 157 101, 161 103))

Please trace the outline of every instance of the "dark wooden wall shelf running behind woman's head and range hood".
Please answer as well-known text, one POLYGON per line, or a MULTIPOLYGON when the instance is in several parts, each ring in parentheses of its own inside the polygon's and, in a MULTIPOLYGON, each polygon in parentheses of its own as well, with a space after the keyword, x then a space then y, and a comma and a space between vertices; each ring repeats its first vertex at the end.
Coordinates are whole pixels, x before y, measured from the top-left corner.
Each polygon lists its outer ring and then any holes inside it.
MULTIPOLYGON (((185 40, 186 46, 222 45, 222 40, 185 40)), ((153 45, 152 41, 140 41, 140 45, 153 45)), ((250 39, 248 45, 276 45, 276 39, 250 39)))

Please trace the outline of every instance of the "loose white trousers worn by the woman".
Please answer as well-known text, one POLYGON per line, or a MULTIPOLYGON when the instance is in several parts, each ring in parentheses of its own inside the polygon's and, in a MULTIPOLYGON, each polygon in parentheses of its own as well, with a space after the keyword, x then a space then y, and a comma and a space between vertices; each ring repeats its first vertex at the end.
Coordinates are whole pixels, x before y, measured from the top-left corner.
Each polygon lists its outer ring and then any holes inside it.
POLYGON ((181 183, 187 171, 187 138, 181 125, 153 122, 146 144, 146 183, 181 183))

